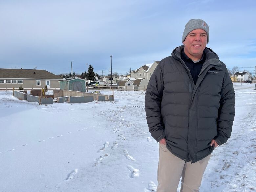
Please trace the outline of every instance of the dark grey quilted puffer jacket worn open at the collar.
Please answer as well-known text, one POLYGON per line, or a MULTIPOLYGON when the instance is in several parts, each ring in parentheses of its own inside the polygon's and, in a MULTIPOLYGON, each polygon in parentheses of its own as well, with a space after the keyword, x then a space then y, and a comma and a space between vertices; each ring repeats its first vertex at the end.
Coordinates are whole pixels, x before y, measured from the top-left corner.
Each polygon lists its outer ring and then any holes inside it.
POLYGON ((209 48, 196 85, 181 50, 173 50, 156 67, 146 90, 149 132, 177 157, 197 162, 222 145, 231 135, 235 116, 235 94, 224 63, 209 48))

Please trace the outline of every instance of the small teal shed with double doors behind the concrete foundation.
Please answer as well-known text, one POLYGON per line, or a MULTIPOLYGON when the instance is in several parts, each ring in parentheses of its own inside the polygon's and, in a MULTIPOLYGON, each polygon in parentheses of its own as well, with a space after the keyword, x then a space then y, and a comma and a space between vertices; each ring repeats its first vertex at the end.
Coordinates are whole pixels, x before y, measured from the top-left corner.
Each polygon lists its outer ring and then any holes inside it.
POLYGON ((86 91, 86 81, 85 79, 72 78, 63 79, 59 81, 60 89, 70 90, 70 91, 86 91))

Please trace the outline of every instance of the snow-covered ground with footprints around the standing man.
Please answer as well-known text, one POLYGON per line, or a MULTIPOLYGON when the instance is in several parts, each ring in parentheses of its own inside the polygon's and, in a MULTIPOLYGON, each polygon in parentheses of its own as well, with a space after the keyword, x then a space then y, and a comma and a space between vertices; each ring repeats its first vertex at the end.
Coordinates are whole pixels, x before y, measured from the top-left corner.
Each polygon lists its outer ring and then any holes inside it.
MULTIPOLYGON (((255 85, 234 88, 233 132, 212 153, 200 191, 256 191, 255 85)), ((1 91, 0 191, 155 191, 158 144, 145 92, 115 90, 114 99, 39 106, 1 91)))

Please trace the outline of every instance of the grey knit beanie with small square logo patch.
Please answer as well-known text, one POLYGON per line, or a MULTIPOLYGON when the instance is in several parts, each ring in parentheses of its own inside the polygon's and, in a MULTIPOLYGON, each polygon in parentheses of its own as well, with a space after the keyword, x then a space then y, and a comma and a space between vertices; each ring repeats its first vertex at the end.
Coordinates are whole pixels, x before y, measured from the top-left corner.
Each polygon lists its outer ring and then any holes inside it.
POLYGON ((188 33, 190 33, 191 31, 193 31, 195 29, 203 29, 207 34, 207 43, 209 43, 209 26, 202 19, 190 19, 187 22, 186 27, 183 32, 183 36, 182 36, 182 43, 185 41, 188 33))

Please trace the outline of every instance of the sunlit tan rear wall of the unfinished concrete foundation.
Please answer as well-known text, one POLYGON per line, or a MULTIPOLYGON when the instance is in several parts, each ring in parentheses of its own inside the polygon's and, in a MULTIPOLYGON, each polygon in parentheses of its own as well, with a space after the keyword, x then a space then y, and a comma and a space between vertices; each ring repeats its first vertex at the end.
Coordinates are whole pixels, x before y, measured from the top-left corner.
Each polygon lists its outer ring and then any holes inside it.
POLYGON ((53 94, 54 94, 54 98, 61 97, 61 96, 71 96, 71 97, 93 96, 93 99, 97 100, 97 96, 105 96, 105 100, 109 100, 108 95, 97 94, 97 93, 87 93, 87 92, 80 92, 80 91, 53 90, 53 94))

